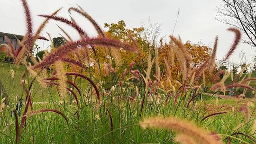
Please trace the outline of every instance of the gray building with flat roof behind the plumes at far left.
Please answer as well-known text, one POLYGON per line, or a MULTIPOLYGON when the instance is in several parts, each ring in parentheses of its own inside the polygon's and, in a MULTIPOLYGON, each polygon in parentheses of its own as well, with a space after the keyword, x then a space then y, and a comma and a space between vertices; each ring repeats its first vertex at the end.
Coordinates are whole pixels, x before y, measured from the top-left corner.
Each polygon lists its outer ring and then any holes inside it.
POLYGON ((0 32, 0 45, 1 44, 7 44, 7 41, 5 40, 4 36, 7 36, 10 41, 12 42, 12 45, 14 46, 15 49, 18 49, 18 40, 22 41, 23 36, 20 35, 14 35, 14 34, 8 34, 8 33, 2 33, 0 32))

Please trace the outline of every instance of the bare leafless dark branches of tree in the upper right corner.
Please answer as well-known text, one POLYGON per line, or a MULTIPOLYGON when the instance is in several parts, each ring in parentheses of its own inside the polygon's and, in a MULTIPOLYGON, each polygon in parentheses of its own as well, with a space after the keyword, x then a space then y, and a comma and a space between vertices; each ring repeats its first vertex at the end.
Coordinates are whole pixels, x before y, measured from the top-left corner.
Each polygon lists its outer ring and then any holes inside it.
POLYGON ((256 47, 256 0, 222 0, 219 21, 238 27, 247 36, 245 43, 256 47))

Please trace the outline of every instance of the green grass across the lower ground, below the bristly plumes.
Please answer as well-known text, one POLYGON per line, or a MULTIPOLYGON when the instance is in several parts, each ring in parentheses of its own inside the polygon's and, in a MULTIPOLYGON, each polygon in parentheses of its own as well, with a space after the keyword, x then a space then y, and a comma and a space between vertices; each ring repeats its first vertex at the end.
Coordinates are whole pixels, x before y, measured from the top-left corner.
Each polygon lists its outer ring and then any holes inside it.
MULTIPOLYGON (((15 108, 19 98, 25 99, 26 97, 24 88, 20 83, 20 77, 25 67, 19 66, 15 69, 9 63, 0 63, 0 66, 0 79, 4 81, 3 86, 13 103, 0 114, 0 126, 2 127, 0 129, 0 140, 4 144, 8 144, 15 142, 15 119, 11 109, 15 108), (14 78, 11 78, 11 69, 15 72, 14 78)), ((113 75, 113 77, 115 76, 113 75)), ((31 83, 31 81, 32 78, 27 77, 27 82, 31 83)), ((141 100, 139 100, 141 98, 139 97, 145 93, 145 90, 141 85, 137 85, 136 83, 124 85, 124 91, 117 87, 108 96, 101 95, 99 105, 96 97, 91 95, 91 87, 86 86, 88 83, 79 79, 77 80, 77 84, 82 88, 82 97, 78 97, 79 101, 77 105, 74 100, 73 102, 69 102, 70 97, 63 99, 59 103, 59 96, 55 90, 55 86, 52 88, 47 87, 43 90, 39 83, 35 81, 31 90, 33 92, 31 99, 34 110, 59 110, 64 117, 50 112, 33 114, 27 117, 26 128, 20 137, 21 143, 175 144, 175 133, 173 131, 142 129, 139 126, 139 121, 143 118, 154 116, 179 117, 193 121, 197 126, 207 127, 212 132, 222 135, 222 140, 225 142, 227 142, 227 136, 231 136, 235 132, 247 135, 252 134, 251 136, 255 133, 252 127, 253 121, 256 119, 254 115, 256 108, 253 106, 256 104, 255 101, 253 105, 248 106, 247 111, 249 112, 244 114, 242 111, 239 112, 238 109, 247 105, 246 101, 238 103, 238 99, 217 99, 204 95, 197 97, 190 103, 189 90, 180 99, 177 99, 177 104, 175 104, 173 98, 170 98, 168 103, 165 103, 165 99, 158 99, 156 95, 152 95, 151 100, 149 97, 146 97, 145 108, 141 110, 141 100), (131 85, 133 86, 131 87, 131 85), (129 95, 136 91, 135 85, 140 87, 140 89, 138 99, 132 100, 129 99, 129 95), (235 111, 234 108, 236 109, 235 111), (206 118, 202 121, 207 115, 218 112, 225 113, 206 118)), ((77 91, 75 93, 78 94, 77 91)), ((159 94, 162 98, 166 96, 165 92, 160 92, 159 94)), ((246 100, 251 101, 253 99, 246 100)), ((32 109, 28 108, 28 110, 31 111, 32 109)), ((23 111, 24 107, 21 113, 23 111)), ((253 140, 248 139, 244 135, 237 135, 232 139, 232 144, 240 144, 241 141, 245 144, 251 144, 253 142, 253 140)))

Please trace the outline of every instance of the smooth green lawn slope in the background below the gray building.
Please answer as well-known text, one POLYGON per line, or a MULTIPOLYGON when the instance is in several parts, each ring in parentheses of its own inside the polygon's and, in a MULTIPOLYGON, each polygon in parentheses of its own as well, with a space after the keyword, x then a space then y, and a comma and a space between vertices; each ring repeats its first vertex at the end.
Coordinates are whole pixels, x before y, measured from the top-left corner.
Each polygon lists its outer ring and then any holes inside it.
MULTIPOLYGON (((2 84, 9 95, 10 99, 13 99, 14 101, 17 101, 17 98, 22 96, 22 93, 24 93, 24 88, 22 85, 20 85, 20 77, 25 72, 25 67, 20 65, 18 68, 15 68, 14 65, 11 63, 1 63, 0 62, 0 80, 2 81, 2 84), (15 72, 14 78, 11 78, 10 70, 13 69, 15 72)), ((243 77, 243 76, 242 76, 243 77)), ((256 73, 252 73, 251 77, 256 77, 256 73)), ((28 80, 32 81, 32 78, 29 78, 28 80)), ((29 81, 28 81, 29 82, 29 81)), ((87 83, 84 83, 85 81, 81 82, 82 87, 86 87, 87 83)), ((225 84, 231 84, 231 77, 229 76, 228 79, 225 81, 225 84)), ((255 87, 256 85, 255 81, 250 82, 251 87, 255 87)), ((211 85, 209 85, 211 86, 211 85)), ((39 86, 39 83, 35 81, 33 85, 33 100, 34 102, 40 102, 40 101, 48 101, 50 98, 55 99, 58 97, 56 89, 49 89, 46 88, 45 90, 42 89, 39 86)), ((247 90, 247 96, 252 96, 252 90, 247 90)))

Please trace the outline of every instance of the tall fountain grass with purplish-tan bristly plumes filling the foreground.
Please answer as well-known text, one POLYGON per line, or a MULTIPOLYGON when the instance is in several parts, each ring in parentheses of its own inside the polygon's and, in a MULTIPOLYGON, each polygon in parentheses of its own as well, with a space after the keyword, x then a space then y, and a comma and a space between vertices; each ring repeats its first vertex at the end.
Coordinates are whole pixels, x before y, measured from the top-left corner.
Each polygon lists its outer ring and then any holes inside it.
MULTIPOLYGON (((166 67, 160 67, 156 47, 147 55, 144 70, 137 69, 135 60, 119 70, 120 53, 141 57, 133 36, 127 37, 129 44, 108 37, 79 5, 69 8, 69 13, 89 20, 98 36, 89 36, 72 16, 57 16, 62 9, 39 15, 45 20, 36 30, 27 1, 21 1, 27 33, 17 50, 10 42, 2 45, 14 61, 3 63, 7 72, 0 73, 1 91, 5 88, 9 93, 9 97, 1 94, 1 144, 255 143, 255 99, 234 98, 234 105, 215 99, 218 94, 226 96, 229 88, 255 91, 250 82, 256 80, 240 79, 240 72, 231 84, 226 83, 230 73, 219 71, 215 64, 218 36, 210 57, 198 67, 192 67, 192 56, 181 38, 169 36, 173 45, 164 58, 166 67), (40 36, 50 20, 73 27, 80 38, 74 39, 58 25, 66 43, 51 45, 51 52, 37 61, 33 45, 37 39, 52 41, 50 34, 40 36), (181 79, 172 79, 170 63, 180 64, 181 79), (19 108, 22 100, 24 106, 19 108)), ((241 39, 238 29, 228 30, 235 40, 224 61, 241 39)))

